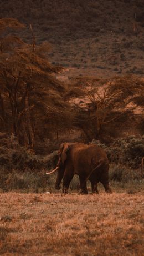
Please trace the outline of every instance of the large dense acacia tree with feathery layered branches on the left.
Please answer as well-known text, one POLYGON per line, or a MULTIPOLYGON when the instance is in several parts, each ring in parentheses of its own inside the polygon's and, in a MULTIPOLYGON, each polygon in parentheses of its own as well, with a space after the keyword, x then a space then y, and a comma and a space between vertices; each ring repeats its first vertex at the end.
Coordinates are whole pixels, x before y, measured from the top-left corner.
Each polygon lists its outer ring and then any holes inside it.
POLYGON ((14 134, 20 144, 33 148, 49 113, 61 109, 69 119, 70 105, 63 98, 64 84, 54 78, 60 68, 48 62, 49 45, 6 36, 6 29, 23 27, 16 19, 0 20, 0 122, 2 132, 14 134))

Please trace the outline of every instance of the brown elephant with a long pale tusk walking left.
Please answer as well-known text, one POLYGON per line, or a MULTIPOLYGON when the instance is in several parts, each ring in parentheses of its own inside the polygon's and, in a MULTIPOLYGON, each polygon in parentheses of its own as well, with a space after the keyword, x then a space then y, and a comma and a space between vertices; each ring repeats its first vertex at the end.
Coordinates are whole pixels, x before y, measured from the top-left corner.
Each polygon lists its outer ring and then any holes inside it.
POLYGON ((97 183, 104 185, 106 193, 112 193, 109 185, 109 160, 105 151, 96 144, 62 143, 58 152, 58 164, 54 170, 46 174, 57 172, 55 189, 60 189, 63 179, 63 193, 68 193, 74 174, 79 176, 80 192, 88 194, 86 181, 90 180, 92 193, 99 193, 97 183))

